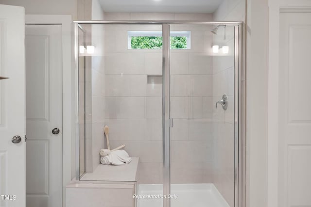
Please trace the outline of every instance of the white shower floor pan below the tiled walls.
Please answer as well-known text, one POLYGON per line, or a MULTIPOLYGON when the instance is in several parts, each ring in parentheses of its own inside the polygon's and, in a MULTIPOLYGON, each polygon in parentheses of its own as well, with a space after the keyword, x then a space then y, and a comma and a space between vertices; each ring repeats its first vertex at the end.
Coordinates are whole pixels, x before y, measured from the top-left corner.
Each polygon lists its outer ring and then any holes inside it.
MULTIPOLYGON (((162 207, 161 184, 138 186, 138 207, 162 207), (148 195, 149 198, 147 197, 148 195)), ((229 207, 224 197, 213 184, 172 184, 171 207, 229 207), (173 196, 178 196, 177 198, 173 196)))

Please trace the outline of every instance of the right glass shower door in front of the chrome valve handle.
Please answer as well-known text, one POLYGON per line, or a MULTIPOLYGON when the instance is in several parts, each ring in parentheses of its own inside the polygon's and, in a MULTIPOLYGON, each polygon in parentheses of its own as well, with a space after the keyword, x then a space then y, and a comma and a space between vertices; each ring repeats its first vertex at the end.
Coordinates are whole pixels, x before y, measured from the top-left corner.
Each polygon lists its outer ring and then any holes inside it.
POLYGON ((170 31, 171 207, 234 207, 234 28, 170 31))

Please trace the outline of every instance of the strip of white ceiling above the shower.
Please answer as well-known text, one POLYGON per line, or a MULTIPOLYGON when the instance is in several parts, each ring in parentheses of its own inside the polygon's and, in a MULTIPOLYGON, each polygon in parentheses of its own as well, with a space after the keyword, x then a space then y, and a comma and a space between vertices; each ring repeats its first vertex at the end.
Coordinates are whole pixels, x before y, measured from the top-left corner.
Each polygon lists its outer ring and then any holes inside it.
POLYGON ((213 13, 223 0, 99 0, 104 12, 213 13))

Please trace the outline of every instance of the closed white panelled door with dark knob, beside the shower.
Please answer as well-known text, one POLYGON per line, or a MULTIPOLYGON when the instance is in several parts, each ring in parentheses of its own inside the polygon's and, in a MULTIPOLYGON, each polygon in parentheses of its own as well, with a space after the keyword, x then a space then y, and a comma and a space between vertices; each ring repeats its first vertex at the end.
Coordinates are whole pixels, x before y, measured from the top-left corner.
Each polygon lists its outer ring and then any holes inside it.
POLYGON ((27 206, 61 207, 61 25, 26 25, 26 130, 27 206))

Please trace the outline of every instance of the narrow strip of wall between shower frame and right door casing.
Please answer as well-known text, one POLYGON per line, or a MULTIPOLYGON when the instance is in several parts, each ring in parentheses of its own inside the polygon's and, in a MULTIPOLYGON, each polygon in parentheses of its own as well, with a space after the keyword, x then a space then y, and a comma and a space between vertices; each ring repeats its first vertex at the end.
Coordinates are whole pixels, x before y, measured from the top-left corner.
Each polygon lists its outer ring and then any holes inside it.
POLYGON ((268 0, 247 0, 246 32, 246 207, 266 207, 268 0))

